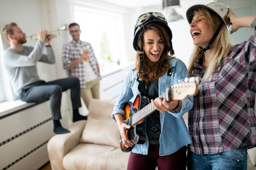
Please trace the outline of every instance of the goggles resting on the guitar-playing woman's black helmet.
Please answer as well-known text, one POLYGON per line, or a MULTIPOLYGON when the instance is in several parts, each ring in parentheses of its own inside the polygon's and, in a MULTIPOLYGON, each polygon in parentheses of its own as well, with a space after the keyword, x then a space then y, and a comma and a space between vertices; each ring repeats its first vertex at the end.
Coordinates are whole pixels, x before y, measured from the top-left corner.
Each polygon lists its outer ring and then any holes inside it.
POLYGON ((167 23, 167 19, 164 17, 164 15, 161 12, 149 12, 139 16, 135 24, 135 27, 138 27, 139 25, 142 25, 148 20, 153 20, 153 19, 160 19, 167 23))

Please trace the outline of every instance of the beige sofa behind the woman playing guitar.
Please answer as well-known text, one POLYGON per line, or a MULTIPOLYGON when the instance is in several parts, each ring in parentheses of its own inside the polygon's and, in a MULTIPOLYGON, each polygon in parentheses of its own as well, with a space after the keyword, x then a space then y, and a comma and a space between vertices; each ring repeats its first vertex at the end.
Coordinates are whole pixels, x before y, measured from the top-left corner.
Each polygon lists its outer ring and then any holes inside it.
POLYGON ((52 170, 127 169, 129 153, 121 151, 112 101, 93 99, 88 120, 73 123, 71 133, 53 136, 47 145, 52 170))

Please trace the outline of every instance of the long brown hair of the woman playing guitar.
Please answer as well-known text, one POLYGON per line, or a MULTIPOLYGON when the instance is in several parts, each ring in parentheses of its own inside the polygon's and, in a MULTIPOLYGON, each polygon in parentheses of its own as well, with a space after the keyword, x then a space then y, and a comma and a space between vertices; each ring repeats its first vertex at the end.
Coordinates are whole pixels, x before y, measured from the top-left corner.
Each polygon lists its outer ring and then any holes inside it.
POLYGON ((156 23, 150 23, 145 25, 142 28, 142 31, 139 33, 138 36, 138 46, 143 46, 143 40, 144 40, 144 32, 146 32, 147 30, 154 30, 156 31, 159 36, 162 38, 163 42, 164 42, 164 49, 162 52, 162 56, 160 57, 158 62, 155 62, 153 65, 150 64, 150 59, 147 57, 146 53, 143 52, 142 57, 143 57, 143 68, 139 59, 139 54, 137 51, 136 54, 136 69, 138 71, 138 76, 139 78, 141 78, 141 80, 144 80, 144 82, 146 83, 146 88, 148 88, 148 84, 150 82, 152 82, 155 79, 159 79, 162 75, 164 75, 164 73, 166 73, 166 71, 169 69, 169 62, 168 62, 168 57, 170 57, 168 55, 168 53, 170 52, 170 46, 169 46, 169 36, 168 33, 166 31, 166 29, 164 29, 164 27, 162 27, 160 24, 156 24, 156 23), (141 37, 141 38, 139 38, 141 37), (141 42, 142 40, 142 42, 141 42), (144 71, 144 73, 146 74, 142 74, 142 71, 144 71), (148 75, 152 74, 153 76, 150 78, 148 75))

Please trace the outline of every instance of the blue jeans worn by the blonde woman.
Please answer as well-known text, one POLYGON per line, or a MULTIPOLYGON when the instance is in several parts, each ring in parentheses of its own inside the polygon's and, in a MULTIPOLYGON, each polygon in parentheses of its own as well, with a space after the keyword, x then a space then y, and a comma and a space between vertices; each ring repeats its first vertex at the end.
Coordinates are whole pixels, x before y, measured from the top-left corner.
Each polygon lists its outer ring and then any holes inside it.
POLYGON ((188 151, 188 170, 246 170, 247 149, 246 147, 236 150, 220 152, 218 154, 195 154, 188 151))

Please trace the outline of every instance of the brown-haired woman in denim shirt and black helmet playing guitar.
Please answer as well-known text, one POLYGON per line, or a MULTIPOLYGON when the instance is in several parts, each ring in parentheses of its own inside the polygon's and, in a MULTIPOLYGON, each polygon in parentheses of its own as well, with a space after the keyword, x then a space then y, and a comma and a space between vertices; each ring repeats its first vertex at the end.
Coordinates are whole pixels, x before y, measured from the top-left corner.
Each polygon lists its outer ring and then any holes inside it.
POLYGON ((191 138, 182 116, 192 108, 193 98, 167 101, 160 96, 179 79, 189 77, 184 63, 168 55, 174 54, 171 39, 171 29, 161 13, 148 12, 137 20, 133 41, 136 66, 127 75, 112 113, 121 142, 133 147, 127 169, 186 169, 185 146, 191 138), (123 117, 125 103, 138 94, 146 96, 156 111, 144 118, 146 141, 134 145, 126 136, 126 129, 131 126, 123 122, 123 117))

